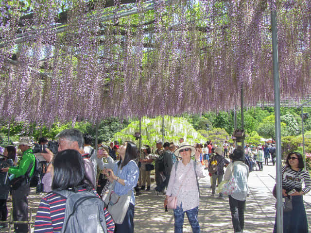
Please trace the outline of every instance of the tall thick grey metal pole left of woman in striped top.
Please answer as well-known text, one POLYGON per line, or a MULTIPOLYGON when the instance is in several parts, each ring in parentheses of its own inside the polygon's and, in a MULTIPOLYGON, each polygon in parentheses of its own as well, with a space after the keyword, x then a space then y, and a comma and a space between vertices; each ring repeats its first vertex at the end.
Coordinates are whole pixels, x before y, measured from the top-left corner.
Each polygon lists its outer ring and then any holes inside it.
POLYGON ((276 6, 271 3, 271 28, 273 49, 274 104, 276 125, 276 232, 283 233, 282 178, 281 178, 281 117, 280 117, 280 78, 278 73, 278 49, 276 6))

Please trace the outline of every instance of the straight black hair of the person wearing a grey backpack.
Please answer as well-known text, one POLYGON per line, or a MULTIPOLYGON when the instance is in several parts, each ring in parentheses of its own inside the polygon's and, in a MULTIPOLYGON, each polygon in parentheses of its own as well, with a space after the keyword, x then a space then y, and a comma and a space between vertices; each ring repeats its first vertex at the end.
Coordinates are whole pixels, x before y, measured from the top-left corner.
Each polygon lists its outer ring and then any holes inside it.
POLYGON ((52 190, 66 190, 86 184, 93 185, 86 178, 84 162, 77 150, 63 150, 56 154, 53 161, 54 176, 52 190))

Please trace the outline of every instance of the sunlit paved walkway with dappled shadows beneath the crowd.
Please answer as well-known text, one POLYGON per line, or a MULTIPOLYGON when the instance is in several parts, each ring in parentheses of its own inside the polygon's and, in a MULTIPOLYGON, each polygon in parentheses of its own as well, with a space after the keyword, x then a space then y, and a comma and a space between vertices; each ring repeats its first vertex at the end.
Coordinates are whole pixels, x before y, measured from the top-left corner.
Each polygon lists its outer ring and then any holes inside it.
MULTIPOLYGON (((253 171, 249 176, 250 195, 246 200, 244 233, 272 233, 275 222, 275 202, 272 189, 275 184, 275 166, 264 166, 263 171, 253 171)), ((210 197, 209 177, 200 179, 199 222, 202 233, 233 233, 228 198, 219 200, 210 197)), ((152 187, 154 187, 154 183, 152 187)), ((164 195, 153 192, 143 192, 136 197, 135 232, 173 233, 173 211, 164 211, 164 195)), ((35 195, 35 189, 28 196, 30 207, 35 217, 40 198, 35 195)), ((304 196, 305 208, 308 216, 309 231, 311 232, 311 194, 304 196)), ((9 211, 11 203, 8 203, 9 211)), ((8 228, 0 233, 9 232, 8 228)), ((13 232, 13 231, 12 231, 13 232)), ((184 232, 192 232, 185 216, 184 232)))

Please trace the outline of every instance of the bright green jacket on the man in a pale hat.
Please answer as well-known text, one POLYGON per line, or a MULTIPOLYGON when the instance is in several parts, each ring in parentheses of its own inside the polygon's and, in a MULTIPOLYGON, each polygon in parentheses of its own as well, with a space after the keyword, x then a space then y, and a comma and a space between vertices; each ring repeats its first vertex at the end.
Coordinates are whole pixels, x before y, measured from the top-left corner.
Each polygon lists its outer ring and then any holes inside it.
POLYGON ((30 148, 23 152, 23 157, 19 161, 19 165, 17 167, 9 168, 9 173, 14 174, 15 177, 25 175, 31 163, 33 163, 33 167, 31 168, 29 177, 32 177, 35 169, 35 155, 33 154, 33 149, 30 148))

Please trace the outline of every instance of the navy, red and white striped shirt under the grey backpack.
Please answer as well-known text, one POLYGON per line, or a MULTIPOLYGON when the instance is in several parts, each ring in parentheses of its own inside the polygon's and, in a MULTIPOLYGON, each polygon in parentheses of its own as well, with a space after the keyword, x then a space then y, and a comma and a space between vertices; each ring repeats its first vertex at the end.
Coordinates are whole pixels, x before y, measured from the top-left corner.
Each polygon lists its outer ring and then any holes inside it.
MULTIPOLYGON (((78 191, 81 192, 85 190, 86 189, 81 188, 78 191)), ((94 189, 93 191, 98 196, 94 189)), ((49 193, 41 199, 35 217, 35 233, 60 233, 64 224, 65 209, 66 199, 55 193, 49 193)), ((107 232, 113 233, 115 224, 106 208, 104 208, 104 215, 107 232)))

